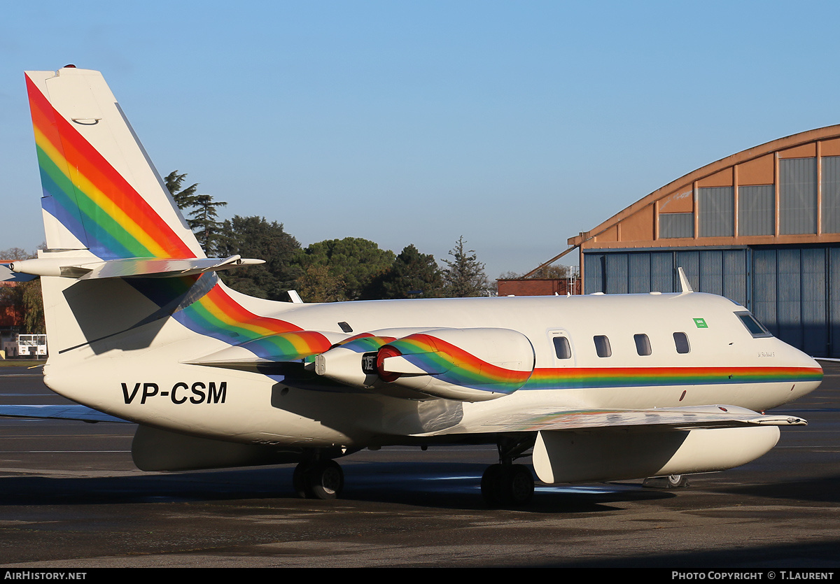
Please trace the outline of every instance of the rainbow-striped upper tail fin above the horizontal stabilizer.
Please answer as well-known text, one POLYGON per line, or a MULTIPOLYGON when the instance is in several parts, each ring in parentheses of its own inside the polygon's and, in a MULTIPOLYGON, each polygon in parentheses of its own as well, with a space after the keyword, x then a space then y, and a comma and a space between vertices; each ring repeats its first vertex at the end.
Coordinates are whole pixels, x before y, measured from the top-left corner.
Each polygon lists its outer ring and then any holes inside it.
POLYGON ((202 258, 98 71, 27 71, 47 247, 97 257, 202 258))

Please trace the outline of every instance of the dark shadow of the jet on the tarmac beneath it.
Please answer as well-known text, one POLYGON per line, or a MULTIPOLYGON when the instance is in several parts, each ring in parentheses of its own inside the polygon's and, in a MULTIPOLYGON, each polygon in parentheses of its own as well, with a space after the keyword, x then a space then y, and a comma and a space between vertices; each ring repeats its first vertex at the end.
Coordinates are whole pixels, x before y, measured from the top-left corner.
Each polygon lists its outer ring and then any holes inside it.
MULTIPOLYGON (((365 462, 344 467, 338 503, 398 503, 432 508, 486 509, 481 498, 483 464, 365 462)), ((291 488, 293 467, 213 472, 149 473, 117 477, 2 477, 0 506, 153 503, 232 499, 289 499, 301 506, 334 501, 299 499, 291 488)), ((606 510, 611 502, 673 498, 639 483, 569 486, 537 484, 534 498, 518 510, 575 513, 606 510)))

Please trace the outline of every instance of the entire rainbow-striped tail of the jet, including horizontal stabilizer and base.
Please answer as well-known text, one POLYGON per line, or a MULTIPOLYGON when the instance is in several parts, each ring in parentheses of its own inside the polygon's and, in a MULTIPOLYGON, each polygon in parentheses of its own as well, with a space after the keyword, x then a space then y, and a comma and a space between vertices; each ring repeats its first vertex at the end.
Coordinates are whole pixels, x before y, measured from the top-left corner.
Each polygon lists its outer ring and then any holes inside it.
POLYGON ((8 269, 45 277, 50 362, 128 347, 132 335, 150 347, 259 320, 213 272, 262 262, 206 258, 102 74, 68 66, 28 71, 26 83, 47 250, 8 269))

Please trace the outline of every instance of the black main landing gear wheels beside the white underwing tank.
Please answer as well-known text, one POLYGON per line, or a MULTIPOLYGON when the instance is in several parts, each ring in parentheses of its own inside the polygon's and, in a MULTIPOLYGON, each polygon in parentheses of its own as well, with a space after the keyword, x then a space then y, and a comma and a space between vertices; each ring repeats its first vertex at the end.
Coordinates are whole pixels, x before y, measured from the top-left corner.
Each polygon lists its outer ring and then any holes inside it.
POLYGON ((527 504, 533 498, 533 474, 531 469, 513 461, 522 453, 533 448, 536 436, 513 438, 499 436, 496 446, 499 450, 499 464, 487 467, 481 477, 481 496, 491 507, 517 507, 527 504))

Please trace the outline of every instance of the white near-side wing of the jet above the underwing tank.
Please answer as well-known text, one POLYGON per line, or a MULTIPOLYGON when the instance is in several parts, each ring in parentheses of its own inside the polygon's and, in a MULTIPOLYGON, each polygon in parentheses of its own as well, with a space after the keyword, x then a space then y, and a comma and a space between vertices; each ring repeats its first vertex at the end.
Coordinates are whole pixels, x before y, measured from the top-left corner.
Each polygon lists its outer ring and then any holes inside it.
MULTIPOLYGON (((538 410, 514 415, 500 414, 470 426, 470 432, 536 432, 549 430, 595 430, 645 426, 657 430, 738 428, 759 425, 807 425, 794 415, 765 415, 734 405, 700 405, 656 409, 538 410)), ((458 431, 457 428, 447 430, 458 431)), ((466 428, 465 428, 466 430, 466 428)))

